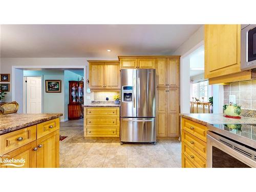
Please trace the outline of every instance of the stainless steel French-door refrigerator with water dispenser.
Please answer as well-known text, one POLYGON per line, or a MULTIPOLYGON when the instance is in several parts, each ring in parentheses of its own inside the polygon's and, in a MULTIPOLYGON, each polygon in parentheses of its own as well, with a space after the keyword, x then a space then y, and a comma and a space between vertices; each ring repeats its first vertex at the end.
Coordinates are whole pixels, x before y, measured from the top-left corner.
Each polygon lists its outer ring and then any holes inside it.
POLYGON ((120 141, 156 143, 156 70, 121 70, 120 141))

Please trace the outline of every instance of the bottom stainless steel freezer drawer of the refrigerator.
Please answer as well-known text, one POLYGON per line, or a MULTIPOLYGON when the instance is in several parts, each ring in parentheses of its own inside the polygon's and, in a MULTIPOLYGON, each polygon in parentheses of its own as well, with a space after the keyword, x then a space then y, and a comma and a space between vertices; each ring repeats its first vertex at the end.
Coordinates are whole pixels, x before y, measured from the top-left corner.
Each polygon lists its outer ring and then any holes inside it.
POLYGON ((156 142, 155 118, 121 118, 121 142, 156 142))

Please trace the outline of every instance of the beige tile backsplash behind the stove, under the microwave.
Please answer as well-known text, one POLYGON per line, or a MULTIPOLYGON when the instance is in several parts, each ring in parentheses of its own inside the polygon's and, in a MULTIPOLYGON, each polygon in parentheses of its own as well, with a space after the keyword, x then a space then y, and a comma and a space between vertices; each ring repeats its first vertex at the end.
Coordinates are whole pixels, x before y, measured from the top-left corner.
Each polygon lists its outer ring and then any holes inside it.
POLYGON ((236 95, 236 103, 243 109, 256 110, 256 80, 240 81, 224 86, 224 103, 229 103, 229 95, 236 95))

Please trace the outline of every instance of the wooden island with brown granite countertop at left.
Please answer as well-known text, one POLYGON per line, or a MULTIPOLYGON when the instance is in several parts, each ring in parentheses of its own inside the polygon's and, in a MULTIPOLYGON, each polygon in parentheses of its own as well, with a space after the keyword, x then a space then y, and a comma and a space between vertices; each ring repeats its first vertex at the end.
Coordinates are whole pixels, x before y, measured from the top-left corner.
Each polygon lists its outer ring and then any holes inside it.
POLYGON ((59 167, 60 116, 1 115, 0 167, 59 167))

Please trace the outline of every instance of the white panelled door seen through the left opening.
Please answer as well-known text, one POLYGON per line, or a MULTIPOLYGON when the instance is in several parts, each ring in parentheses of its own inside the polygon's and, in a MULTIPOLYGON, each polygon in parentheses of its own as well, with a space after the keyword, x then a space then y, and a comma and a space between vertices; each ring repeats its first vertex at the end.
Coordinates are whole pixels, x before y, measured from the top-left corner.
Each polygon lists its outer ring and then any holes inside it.
POLYGON ((41 90, 42 79, 41 77, 27 77, 26 90, 27 90, 27 113, 41 113, 41 90))

